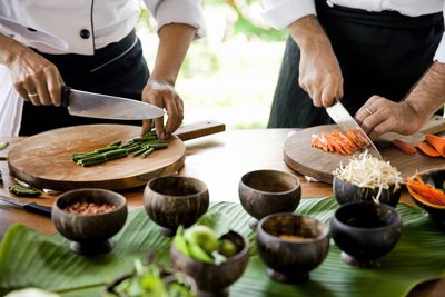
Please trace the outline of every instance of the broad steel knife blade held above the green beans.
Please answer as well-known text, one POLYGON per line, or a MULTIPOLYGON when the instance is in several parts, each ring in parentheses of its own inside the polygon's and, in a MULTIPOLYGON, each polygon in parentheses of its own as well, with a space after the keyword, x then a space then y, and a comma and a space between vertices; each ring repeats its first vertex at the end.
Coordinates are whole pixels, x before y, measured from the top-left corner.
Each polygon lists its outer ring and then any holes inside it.
POLYGON ((165 113, 164 109, 147 102, 75 90, 67 86, 62 86, 62 106, 72 116, 100 119, 145 120, 156 119, 165 113))

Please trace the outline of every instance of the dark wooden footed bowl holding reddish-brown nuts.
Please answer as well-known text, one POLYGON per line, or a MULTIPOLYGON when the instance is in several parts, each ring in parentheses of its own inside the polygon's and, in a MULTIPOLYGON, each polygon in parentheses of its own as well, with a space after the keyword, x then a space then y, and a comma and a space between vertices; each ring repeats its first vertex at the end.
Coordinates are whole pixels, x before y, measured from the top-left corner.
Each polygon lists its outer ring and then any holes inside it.
POLYGON ((75 253, 96 256, 108 253, 115 246, 110 239, 127 220, 126 198, 115 191, 82 188, 61 194, 52 207, 52 222, 60 235, 71 240, 75 253), (117 208, 103 214, 69 214, 65 209, 75 202, 108 204, 117 208))

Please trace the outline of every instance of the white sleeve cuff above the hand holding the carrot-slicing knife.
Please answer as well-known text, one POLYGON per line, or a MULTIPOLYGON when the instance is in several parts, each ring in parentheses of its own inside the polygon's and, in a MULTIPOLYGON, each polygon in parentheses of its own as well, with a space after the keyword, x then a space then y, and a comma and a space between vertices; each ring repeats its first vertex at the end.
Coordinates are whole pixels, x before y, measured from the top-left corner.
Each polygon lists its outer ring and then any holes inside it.
POLYGON ((285 29, 294 21, 316 14, 314 0, 263 0, 263 18, 275 29, 285 29))

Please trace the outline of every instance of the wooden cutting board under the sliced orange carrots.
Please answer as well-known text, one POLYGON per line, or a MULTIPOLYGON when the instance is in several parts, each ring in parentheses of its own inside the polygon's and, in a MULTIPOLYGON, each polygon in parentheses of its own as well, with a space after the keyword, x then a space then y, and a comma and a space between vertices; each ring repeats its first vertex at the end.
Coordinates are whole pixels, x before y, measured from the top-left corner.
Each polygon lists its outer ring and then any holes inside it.
MULTIPOLYGON (((340 165, 347 165, 349 159, 358 157, 360 152, 344 156, 338 152, 326 152, 310 147, 312 135, 329 132, 338 129, 336 125, 317 126, 295 131, 284 146, 285 162, 295 171, 313 177, 319 181, 333 184, 333 171, 340 165)), ((392 145, 378 146, 383 158, 396 167, 403 178, 414 175, 417 170, 445 168, 445 158, 432 158, 417 152, 407 155, 392 145)))

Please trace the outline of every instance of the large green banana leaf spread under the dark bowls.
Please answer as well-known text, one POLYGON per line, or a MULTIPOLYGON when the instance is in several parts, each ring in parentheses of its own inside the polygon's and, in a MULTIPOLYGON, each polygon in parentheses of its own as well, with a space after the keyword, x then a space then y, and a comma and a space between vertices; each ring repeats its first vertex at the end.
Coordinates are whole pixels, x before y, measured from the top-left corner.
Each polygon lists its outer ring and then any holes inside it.
MULTIPOLYGON (((338 207, 333 197, 303 199, 297 214, 330 222, 338 207)), ((231 228, 250 240, 250 259, 244 275, 230 287, 230 296, 405 296, 417 284, 445 277, 445 235, 422 209, 399 204, 403 218, 397 246, 383 258, 382 267, 359 269, 344 264, 340 250, 330 241, 325 261, 310 273, 308 281, 285 285, 270 280, 255 249, 249 215, 239 204, 214 202, 209 211, 228 216, 231 228)), ((83 257, 69 249, 60 235, 46 236, 13 225, 0 246, 0 296, 24 287, 39 287, 63 297, 102 296, 113 278, 130 273, 135 259, 147 251, 169 265, 171 239, 160 235, 144 208, 129 214, 113 238, 115 249, 103 256, 83 257)))

